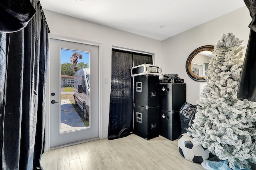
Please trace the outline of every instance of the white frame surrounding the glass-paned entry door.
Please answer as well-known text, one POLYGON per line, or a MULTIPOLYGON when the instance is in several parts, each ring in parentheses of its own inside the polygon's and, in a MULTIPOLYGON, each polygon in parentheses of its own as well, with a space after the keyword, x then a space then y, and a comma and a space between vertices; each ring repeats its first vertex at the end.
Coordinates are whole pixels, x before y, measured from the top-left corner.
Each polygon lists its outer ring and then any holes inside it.
MULTIPOLYGON (((62 36, 62 35, 55 35, 55 34, 51 34, 49 33, 49 41, 50 39, 57 39, 57 40, 62 40, 62 41, 70 41, 70 42, 74 42, 74 43, 81 43, 81 44, 85 44, 85 45, 94 45, 94 46, 98 46, 99 47, 99 138, 102 139, 103 138, 103 127, 102 127, 102 90, 101 90, 101 84, 102 84, 102 50, 103 50, 103 45, 102 43, 98 43, 98 42, 94 42, 94 41, 87 41, 84 39, 78 39, 78 38, 73 38, 73 37, 66 37, 66 36, 62 36)), ((50 45, 49 45, 49 51, 50 53, 50 45)), ((47 83, 47 90, 46 90, 46 116, 45 116, 45 143, 44 143, 44 152, 47 152, 50 150, 50 76, 49 76, 49 69, 48 69, 48 83, 47 83)), ((88 141, 88 140, 87 140, 88 141)), ((78 142, 78 143, 81 143, 78 142)), ((70 145, 75 145, 78 143, 72 143, 70 145)), ((65 145, 65 147, 68 145, 65 145)), ((55 149, 55 148, 54 148, 55 149)))

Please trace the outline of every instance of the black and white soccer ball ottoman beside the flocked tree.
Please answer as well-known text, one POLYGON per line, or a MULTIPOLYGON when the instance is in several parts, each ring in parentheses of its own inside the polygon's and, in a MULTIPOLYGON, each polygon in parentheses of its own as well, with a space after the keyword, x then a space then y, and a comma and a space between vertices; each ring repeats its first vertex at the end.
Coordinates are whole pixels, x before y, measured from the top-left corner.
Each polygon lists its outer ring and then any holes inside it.
POLYGON ((180 154, 191 162, 201 163, 209 158, 209 153, 201 145, 194 146, 194 141, 187 133, 178 138, 178 149, 180 154))

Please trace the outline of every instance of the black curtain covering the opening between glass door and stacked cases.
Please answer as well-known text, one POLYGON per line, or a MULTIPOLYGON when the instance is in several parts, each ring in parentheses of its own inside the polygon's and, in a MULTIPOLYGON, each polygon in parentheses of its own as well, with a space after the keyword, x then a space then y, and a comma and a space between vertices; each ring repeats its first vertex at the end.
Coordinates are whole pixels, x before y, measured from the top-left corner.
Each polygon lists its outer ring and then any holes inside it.
POLYGON ((152 64, 152 55, 112 49, 109 140, 126 137, 133 131, 133 86, 130 68, 144 63, 152 64))

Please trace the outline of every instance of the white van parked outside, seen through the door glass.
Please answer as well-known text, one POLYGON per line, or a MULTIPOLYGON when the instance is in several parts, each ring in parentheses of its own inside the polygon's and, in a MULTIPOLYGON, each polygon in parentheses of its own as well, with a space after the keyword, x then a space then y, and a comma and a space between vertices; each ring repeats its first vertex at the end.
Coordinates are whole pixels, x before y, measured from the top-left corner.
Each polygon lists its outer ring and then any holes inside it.
POLYGON ((84 119, 89 120, 90 115, 90 68, 82 68, 75 73, 74 99, 83 113, 84 119))

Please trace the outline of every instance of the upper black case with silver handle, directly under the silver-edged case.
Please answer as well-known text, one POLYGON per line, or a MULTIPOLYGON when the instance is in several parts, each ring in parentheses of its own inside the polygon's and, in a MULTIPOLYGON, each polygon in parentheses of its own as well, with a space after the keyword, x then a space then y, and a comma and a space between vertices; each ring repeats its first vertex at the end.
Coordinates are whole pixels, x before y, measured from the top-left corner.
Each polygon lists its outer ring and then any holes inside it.
POLYGON ((159 106, 159 76, 134 76, 134 104, 137 106, 159 106))

